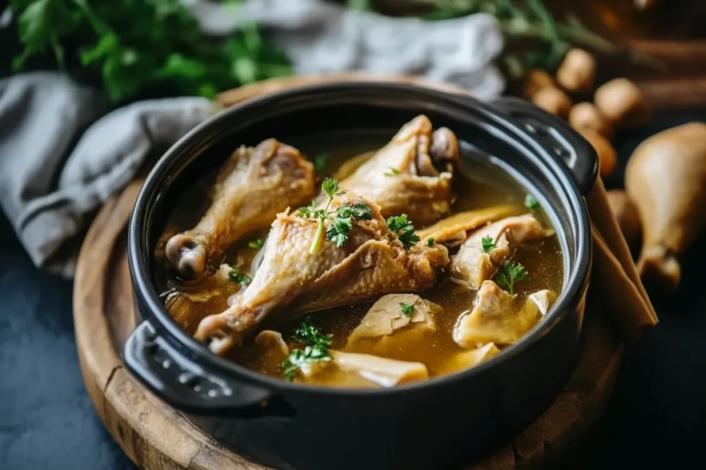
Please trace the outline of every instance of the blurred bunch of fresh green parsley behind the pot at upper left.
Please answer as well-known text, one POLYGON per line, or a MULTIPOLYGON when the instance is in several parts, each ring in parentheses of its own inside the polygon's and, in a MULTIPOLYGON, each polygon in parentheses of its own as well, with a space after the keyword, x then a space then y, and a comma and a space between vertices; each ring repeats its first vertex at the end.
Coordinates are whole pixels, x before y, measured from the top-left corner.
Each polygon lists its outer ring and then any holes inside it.
POLYGON ((23 51, 83 82, 102 84, 114 102, 142 96, 201 95, 290 75, 287 56, 256 25, 225 41, 205 37, 180 0, 11 0, 23 51))

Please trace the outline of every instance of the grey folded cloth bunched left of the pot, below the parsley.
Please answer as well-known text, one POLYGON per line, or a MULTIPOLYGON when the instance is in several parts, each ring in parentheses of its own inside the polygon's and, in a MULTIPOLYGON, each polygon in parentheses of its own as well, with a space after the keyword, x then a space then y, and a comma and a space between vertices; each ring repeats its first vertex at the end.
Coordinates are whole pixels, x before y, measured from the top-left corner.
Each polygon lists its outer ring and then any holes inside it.
POLYGON ((105 109, 100 94, 59 74, 0 82, 0 204, 35 265, 64 276, 73 275, 76 253, 60 248, 87 216, 129 183, 155 146, 172 144, 215 106, 203 98, 141 101, 96 120, 74 142, 105 109))

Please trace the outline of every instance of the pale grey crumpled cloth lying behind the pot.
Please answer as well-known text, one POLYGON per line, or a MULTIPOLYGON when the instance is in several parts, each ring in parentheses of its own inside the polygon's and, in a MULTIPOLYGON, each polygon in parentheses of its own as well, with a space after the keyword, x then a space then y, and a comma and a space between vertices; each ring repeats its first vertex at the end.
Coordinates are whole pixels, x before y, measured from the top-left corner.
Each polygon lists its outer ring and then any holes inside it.
POLYGON ((505 82, 492 61, 503 49, 497 20, 477 14, 444 21, 388 18, 323 0, 247 0, 242 4, 184 0, 213 35, 256 21, 299 74, 366 70, 421 74, 455 83, 481 99, 497 97, 505 82))

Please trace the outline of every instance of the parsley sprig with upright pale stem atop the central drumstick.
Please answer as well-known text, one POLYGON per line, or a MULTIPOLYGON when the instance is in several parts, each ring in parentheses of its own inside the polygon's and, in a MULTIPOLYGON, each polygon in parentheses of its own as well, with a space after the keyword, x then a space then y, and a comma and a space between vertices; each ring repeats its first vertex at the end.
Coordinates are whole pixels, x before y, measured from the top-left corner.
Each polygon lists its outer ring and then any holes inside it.
POLYGON ((373 218, 372 209, 368 204, 362 202, 357 202, 352 206, 346 203, 335 211, 329 211, 328 208, 331 206, 333 197, 345 194, 345 191, 339 191, 338 181, 333 178, 323 180, 321 187, 323 192, 328 195, 328 204, 325 209, 316 209, 316 204, 312 202, 310 206, 300 207, 299 214, 297 214, 299 217, 318 218, 318 230, 316 230, 316 235, 311 242, 309 253, 315 253, 318 249, 325 221, 332 221, 326 230, 326 240, 331 240, 337 247, 342 247, 348 241, 348 233, 353 228, 352 218, 357 218, 360 221, 369 221, 373 218), (333 218, 333 214, 336 214, 337 217, 333 218))

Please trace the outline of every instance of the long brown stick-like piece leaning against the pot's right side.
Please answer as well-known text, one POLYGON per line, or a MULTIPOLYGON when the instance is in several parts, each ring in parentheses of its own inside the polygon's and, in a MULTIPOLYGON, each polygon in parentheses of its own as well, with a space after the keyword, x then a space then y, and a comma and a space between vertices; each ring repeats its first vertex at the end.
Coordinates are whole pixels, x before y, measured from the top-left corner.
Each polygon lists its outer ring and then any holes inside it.
POLYGON ((657 325, 657 314, 642 285, 618 221, 608 204, 606 188, 598 178, 586 197, 593 235, 593 270, 589 302, 602 304, 621 336, 637 340, 657 325))

